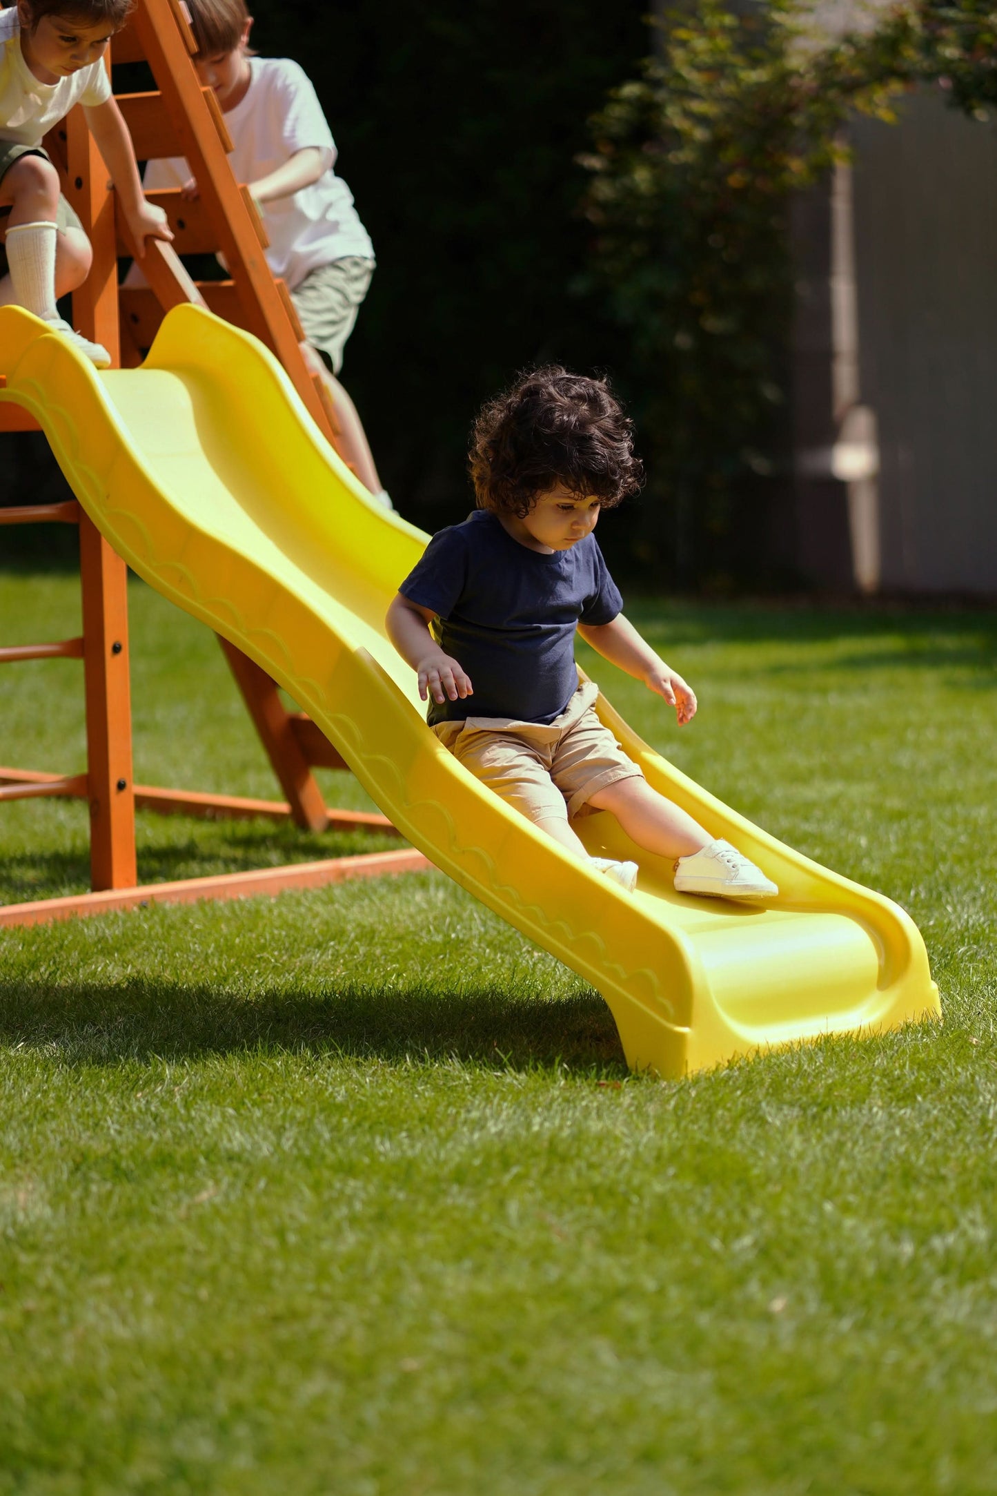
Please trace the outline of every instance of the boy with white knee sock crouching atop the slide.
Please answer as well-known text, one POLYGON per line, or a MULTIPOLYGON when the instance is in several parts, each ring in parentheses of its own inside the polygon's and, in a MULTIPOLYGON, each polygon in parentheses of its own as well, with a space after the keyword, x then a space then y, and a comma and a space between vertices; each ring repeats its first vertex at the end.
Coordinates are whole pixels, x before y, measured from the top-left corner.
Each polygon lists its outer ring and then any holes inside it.
POLYGON ((139 254, 148 235, 173 238, 166 214, 142 194, 132 136, 103 63, 130 4, 18 0, 0 10, 0 305, 33 311, 97 368, 111 364, 108 350, 73 332, 55 308, 58 296, 87 278, 93 251, 60 193, 42 136, 82 103, 139 254))

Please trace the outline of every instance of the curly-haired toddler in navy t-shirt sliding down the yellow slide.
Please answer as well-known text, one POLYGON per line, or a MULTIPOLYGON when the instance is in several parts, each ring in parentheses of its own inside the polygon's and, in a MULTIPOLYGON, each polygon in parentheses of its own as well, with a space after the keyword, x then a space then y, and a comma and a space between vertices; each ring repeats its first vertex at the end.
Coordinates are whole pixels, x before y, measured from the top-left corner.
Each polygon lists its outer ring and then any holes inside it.
POLYGON ((644 779, 578 684, 575 630, 670 706, 697 700, 623 618, 596 545, 601 509, 637 491, 632 423, 602 380, 537 370, 478 416, 477 510, 433 536, 387 613, 419 672, 429 726, 471 773, 607 878, 632 890, 637 865, 589 859, 572 829, 610 811, 638 847, 676 862, 680 893, 774 898, 777 887, 726 841, 644 779), (436 630, 439 642, 430 633, 436 630), (474 682, 474 684, 472 684, 474 682))

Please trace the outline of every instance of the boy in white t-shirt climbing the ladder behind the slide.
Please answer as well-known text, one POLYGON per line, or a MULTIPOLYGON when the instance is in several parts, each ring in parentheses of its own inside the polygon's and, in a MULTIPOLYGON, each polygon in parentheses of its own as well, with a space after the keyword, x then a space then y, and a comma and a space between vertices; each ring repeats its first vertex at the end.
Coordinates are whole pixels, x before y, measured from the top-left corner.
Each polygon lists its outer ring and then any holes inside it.
MULTIPOLYGON (((226 115, 232 169, 263 215, 266 259, 290 290, 305 331, 305 359, 329 387, 347 461, 390 507, 356 407, 335 378, 374 275, 374 247, 350 188, 333 172, 336 147, 315 90, 290 58, 250 51, 253 16, 245 0, 188 0, 188 9, 194 63, 226 115)), ((197 194, 182 157, 148 163, 145 190, 164 187, 197 194)))

